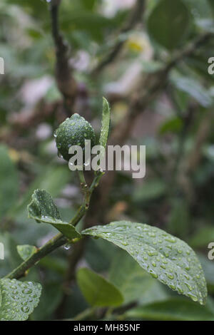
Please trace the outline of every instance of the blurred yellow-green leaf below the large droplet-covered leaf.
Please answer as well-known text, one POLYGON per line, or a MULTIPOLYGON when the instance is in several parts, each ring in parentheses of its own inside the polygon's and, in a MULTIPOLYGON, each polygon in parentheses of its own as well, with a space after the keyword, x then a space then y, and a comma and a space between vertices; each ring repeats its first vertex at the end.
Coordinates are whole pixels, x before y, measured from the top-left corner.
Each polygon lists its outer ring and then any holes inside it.
POLYGON ((79 269, 77 282, 83 296, 91 306, 108 307, 123 304, 121 292, 105 278, 90 269, 79 269))

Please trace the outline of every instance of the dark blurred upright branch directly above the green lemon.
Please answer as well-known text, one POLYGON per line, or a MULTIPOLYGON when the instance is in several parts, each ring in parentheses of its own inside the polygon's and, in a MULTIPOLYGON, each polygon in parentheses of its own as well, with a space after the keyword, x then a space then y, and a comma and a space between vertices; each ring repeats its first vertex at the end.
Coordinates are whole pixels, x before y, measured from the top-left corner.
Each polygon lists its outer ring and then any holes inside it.
POLYGON ((69 48, 59 31, 58 10, 61 0, 51 1, 52 36, 56 47, 56 83, 64 98, 64 105, 68 115, 73 113, 73 104, 77 95, 77 84, 72 76, 69 65, 69 48))

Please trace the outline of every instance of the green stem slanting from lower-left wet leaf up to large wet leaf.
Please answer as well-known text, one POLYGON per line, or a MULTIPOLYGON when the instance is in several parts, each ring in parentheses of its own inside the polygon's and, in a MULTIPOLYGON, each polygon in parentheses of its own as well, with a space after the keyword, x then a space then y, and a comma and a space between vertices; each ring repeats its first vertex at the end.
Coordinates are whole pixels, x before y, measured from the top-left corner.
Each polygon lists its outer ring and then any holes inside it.
POLYGON ((19 267, 16 267, 12 272, 7 274, 4 278, 8 279, 19 279, 24 276, 25 272, 33 267, 34 264, 39 262, 47 254, 50 254, 52 251, 61 247, 63 244, 66 244, 67 238, 63 234, 57 234, 55 237, 49 240, 43 247, 41 247, 35 254, 30 256, 24 262, 22 262, 19 267))

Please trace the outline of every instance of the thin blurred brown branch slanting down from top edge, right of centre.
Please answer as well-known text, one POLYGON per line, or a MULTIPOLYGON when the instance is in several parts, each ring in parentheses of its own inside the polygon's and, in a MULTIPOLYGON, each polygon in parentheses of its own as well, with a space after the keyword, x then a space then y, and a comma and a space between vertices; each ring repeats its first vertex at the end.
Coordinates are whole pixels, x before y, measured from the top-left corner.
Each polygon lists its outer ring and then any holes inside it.
MULTIPOLYGON (((137 0, 136 5, 133 8, 133 11, 131 12, 131 16, 129 17, 126 24, 123 26, 121 31, 119 31, 118 36, 121 36, 125 33, 128 33, 128 31, 131 31, 131 29, 138 24, 139 21, 141 21, 143 16, 143 10, 144 10, 145 0, 137 0)), ((101 60, 100 63, 98 63, 98 66, 93 69, 92 76, 97 76, 98 73, 100 73, 103 68, 105 68, 109 63, 113 62, 116 56, 118 56, 118 53, 120 53, 121 48, 123 48, 123 44, 125 41, 117 41, 116 44, 113 46, 111 51, 106 55, 105 58, 101 60)))

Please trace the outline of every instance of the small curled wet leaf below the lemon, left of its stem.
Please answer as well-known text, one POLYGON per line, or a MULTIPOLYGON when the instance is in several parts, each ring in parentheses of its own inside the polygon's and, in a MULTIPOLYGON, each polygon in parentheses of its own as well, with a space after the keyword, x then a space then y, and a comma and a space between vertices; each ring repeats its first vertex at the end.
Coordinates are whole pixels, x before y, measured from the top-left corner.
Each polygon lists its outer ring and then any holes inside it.
POLYGON ((64 234, 68 239, 80 238, 73 225, 61 220, 54 201, 46 190, 35 190, 32 195, 32 201, 28 206, 29 217, 36 222, 45 222, 54 226, 59 232, 64 234))

